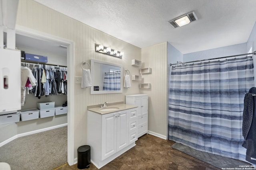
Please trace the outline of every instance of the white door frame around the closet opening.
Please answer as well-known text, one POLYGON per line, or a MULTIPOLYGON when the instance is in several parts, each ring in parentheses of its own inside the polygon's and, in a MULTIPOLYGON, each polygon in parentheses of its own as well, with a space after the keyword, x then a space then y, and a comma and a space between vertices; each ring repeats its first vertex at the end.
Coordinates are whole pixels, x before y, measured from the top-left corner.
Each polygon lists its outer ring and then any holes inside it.
POLYGON ((68 164, 74 165, 74 41, 16 25, 16 34, 48 42, 59 42, 67 47, 68 67, 68 164))

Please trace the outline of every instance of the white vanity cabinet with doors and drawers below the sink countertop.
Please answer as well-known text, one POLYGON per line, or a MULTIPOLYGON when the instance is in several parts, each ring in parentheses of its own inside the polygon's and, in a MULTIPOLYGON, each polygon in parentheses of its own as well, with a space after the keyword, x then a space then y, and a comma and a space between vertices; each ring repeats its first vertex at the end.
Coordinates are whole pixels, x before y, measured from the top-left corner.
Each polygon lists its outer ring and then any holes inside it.
POLYGON ((91 162, 97 168, 135 146, 138 139, 137 120, 133 126, 136 112, 136 108, 106 114, 88 110, 87 145, 91 147, 91 162), (131 129, 129 123, 132 122, 131 129))

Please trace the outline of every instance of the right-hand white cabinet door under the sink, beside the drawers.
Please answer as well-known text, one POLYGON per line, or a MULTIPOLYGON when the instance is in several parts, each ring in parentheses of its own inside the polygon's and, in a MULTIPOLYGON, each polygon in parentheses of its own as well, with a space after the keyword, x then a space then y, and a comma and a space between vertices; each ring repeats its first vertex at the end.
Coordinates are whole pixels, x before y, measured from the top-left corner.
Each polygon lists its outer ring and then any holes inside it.
POLYGON ((129 110, 118 111, 117 112, 117 151, 124 149, 129 143, 129 125, 128 125, 128 115, 129 110))

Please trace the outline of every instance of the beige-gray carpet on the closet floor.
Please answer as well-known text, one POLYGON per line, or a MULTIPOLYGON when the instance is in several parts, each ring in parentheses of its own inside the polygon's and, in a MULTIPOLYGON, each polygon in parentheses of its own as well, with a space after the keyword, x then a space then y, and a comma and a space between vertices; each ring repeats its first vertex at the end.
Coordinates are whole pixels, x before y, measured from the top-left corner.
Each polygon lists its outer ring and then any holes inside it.
POLYGON ((20 137, 0 147, 12 170, 52 170, 67 162, 67 126, 20 137))

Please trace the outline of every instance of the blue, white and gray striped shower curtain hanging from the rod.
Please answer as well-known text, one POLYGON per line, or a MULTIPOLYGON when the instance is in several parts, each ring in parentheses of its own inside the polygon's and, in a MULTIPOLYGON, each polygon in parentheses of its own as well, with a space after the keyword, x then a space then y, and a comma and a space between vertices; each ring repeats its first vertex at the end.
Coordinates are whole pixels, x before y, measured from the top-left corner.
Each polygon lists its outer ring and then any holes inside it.
POLYGON ((169 139, 197 150, 245 160, 242 114, 254 86, 252 57, 172 66, 169 139))

